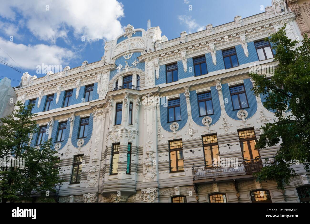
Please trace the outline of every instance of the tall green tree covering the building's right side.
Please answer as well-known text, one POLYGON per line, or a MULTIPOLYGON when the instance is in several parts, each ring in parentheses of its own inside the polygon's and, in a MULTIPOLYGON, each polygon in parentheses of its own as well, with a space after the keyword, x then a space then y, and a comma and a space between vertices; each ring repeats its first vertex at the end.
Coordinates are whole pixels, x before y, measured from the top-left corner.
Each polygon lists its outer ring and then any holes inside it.
POLYGON ((258 181, 274 180, 278 189, 289 184, 296 172, 292 164, 303 166, 309 172, 310 159, 310 41, 305 36, 303 42, 291 41, 285 35, 285 28, 266 38, 276 51, 274 60, 279 61, 271 79, 265 75, 249 74, 255 81, 255 94, 263 94, 263 106, 275 111, 276 118, 267 123, 256 148, 271 147, 279 143, 281 147, 272 165, 257 173, 258 181), (283 116, 285 111, 291 115, 283 116), (299 164, 300 163, 300 164, 299 164))

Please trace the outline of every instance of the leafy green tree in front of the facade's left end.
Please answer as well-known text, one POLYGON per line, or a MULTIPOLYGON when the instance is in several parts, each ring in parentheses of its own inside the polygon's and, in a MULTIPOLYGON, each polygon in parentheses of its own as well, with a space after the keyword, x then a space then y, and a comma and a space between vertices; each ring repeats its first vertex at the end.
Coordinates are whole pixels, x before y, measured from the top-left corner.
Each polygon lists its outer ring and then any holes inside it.
POLYGON ((0 167, 0 198, 1 202, 31 200, 31 191, 42 195, 43 201, 54 201, 45 197, 46 191, 55 192, 55 184, 61 183, 57 176, 58 168, 53 168, 54 162, 59 162, 55 151, 51 149, 51 139, 33 147, 30 145, 32 136, 38 133, 36 121, 31 113, 34 105, 26 108, 20 101, 17 109, 10 115, 0 118, 0 159, 13 157, 24 160, 24 167, 13 166, 4 161, 0 167))

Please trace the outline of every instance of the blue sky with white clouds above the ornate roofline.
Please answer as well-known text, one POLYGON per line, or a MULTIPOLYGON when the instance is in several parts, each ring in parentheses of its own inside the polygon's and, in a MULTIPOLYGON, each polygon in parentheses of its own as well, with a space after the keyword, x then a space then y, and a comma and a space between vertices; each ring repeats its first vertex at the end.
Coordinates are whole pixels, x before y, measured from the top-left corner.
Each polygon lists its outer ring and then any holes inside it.
MULTIPOLYGON (((36 73, 42 63, 75 68, 84 60, 99 61, 104 42, 121 34, 129 23, 146 29, 151 20, 151 26, 159 26, 170 40, 183 30, 194 33, 207 24, 225 24, 236 15, 245 18, 261 13, 269 5, 271 0, 6 1, 0 8, 0 47, 7 54, 0 49, 0 59, 21 72, 42 77, 45 74, 36 73)), ((21 76, 0 63, 0 78, 11 78, 12 86, 18 86, 21 76)))

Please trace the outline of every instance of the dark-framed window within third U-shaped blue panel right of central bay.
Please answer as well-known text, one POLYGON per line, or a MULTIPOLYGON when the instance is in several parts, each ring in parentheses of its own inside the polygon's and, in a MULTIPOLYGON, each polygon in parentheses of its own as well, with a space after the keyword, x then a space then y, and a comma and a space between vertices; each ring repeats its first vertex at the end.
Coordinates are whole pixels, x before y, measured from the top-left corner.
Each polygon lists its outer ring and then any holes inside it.
POLYGON ((233 110, 249 107, 248 99, 246 97, 246 90, 243 84, 238 86, 231 86, 229 87, 229 91, 232 99, 233 110))

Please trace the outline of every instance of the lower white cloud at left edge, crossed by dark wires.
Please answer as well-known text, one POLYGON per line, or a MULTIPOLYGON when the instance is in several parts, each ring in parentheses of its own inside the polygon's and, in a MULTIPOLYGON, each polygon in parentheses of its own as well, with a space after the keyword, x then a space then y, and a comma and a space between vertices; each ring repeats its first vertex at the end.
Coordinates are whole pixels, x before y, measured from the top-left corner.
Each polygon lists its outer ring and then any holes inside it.
MULTIPOLYGON (((0 37, 0 46, 26 70, 36 70, 36 66, 42 63, 45 65, 63 65, 64 68, 71 59, 76 57, 72 51, 59 46, 15 44, 14 42, 4 40, 2 37, 0 37)), ((9 64, 21 70, 1 49, 0 56, 8 61, 9 64)))

